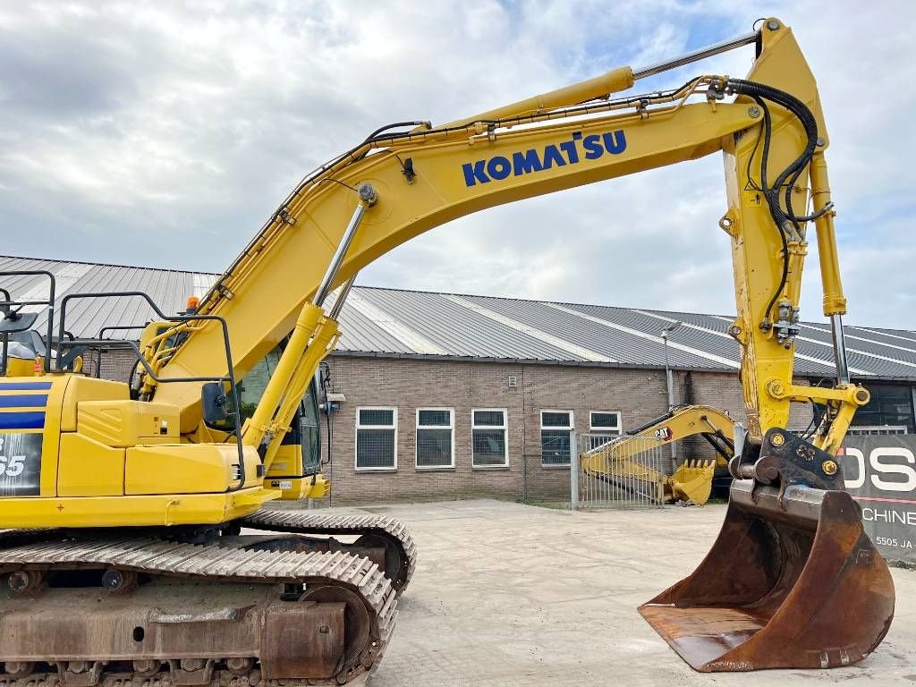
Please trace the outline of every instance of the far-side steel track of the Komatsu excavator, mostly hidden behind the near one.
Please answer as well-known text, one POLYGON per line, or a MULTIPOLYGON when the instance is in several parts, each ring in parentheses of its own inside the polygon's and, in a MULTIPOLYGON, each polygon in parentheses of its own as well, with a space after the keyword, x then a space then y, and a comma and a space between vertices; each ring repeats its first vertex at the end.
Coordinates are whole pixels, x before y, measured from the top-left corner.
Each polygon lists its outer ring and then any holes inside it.
MULTIPOLYGON (((323 551, 349 551, 365 555, 378 563, 398 596, 407 588, 417 568, 417 545, 402 522, 381 516, 324 515, 309 511, 264 508, 237 521, 243 528, 284 532, 308 538, 309 535, 358 535, 353 544, 336 540, 307 540, 323 551), (331 542, 329 545, 329 541, 331 542)), ((295 545, 297 540, 277 541, 278 549, 295 545)), ((309 546, 307 544, 306 546, 309 546)))

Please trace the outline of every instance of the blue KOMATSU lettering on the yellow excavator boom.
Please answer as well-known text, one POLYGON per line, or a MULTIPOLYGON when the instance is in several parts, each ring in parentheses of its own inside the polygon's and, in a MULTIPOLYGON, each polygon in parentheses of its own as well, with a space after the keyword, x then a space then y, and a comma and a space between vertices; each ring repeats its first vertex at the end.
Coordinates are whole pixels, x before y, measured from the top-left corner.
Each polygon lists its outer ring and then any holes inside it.
POLYGON ((477 183, 504 180, 510 174, 520 177, 553 167, 575 165, 582 160, 581 153, 585 159, 598 159, 605 153, 620 155, 626 149, 627 136, 624 136, 623 129, 584 137, 582 132, 577 131, 569 141, 563 141, 556 146, 545 146, 540 150, 532 147, 524 152, 512 153, 511 159, 496 155, 489 159, 465 162, 462 165, 464 185, 471 187, 477 183))

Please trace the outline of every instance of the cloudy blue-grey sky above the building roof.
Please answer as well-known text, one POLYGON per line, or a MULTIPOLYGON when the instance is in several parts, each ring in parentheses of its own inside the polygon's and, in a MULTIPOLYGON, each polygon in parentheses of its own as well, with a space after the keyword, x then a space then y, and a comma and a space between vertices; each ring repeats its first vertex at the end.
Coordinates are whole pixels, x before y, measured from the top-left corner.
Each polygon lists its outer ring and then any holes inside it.
MULTIPOLYGON (((916 329, 916 3, 0 0, 0 254, 221 271, 307 171, 780 16, 822 91, 847 322, 916 329)), ((638 83, 744 75, 751 49, 638 83)), ((713 156, 464 217, 359 283, 734 311, 713 156)), ((816 251, 802 316, 820 320, 816 251)))

